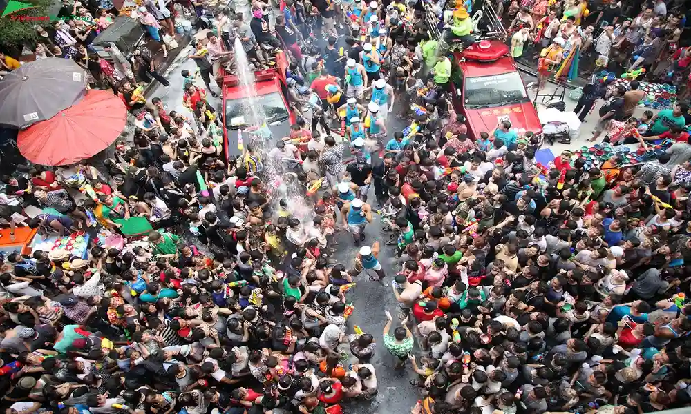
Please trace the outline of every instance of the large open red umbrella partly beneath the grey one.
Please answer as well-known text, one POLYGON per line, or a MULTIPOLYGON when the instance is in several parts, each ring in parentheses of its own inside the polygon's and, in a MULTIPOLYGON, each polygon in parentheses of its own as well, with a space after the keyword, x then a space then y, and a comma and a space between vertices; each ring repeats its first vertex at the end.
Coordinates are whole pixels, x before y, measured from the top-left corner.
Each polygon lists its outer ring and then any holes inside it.
POLYGON ((111 91, 89 90, 86 97, 55 117, 19 131, 17 147, 44 166, 75 164, 92 157, 120 136, 127 109, 111 91))

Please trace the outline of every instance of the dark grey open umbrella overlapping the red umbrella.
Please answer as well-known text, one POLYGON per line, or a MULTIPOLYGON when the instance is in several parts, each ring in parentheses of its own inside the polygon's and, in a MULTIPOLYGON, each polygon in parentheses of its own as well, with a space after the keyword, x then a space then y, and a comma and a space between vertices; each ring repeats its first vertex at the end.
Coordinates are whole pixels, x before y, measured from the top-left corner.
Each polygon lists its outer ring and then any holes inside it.
POLYGON ((86 95, 86 72, 72 59, 24 63, 0 81, 0 124, 26 128, 65 110, 86 95))

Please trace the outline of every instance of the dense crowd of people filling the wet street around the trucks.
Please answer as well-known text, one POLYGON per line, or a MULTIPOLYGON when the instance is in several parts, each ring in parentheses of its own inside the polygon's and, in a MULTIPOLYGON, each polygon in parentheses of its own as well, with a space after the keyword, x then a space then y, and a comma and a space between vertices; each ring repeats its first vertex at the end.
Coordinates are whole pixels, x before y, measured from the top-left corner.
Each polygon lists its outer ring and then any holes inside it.
MULTIPOLYGON (((64 3, 68 14, 90 13, 80 6, 64 3)), ((182 72, 189 113, 180 113, 138 92, 149 76, 167 84, 146 53, 128 61, 109 46, 109 63, 88 52, 117 12, 108 0, 95 6, 95 26, 39 28, 37 56, 72 57, 113 87, 135 115, 134 137, 98 168, 32 166, 2 179, 10 238, 21 227, 88 236, 84 255, 4 257, 9 413, 339 414, 341 402, 377 398, 387 369, 377 344, 395 369, 415 372, 413 414, 691 404, 685 103, 636 119, 637 82, 591 82, 576 112, 585 119, 607 99, 594 139, 676 143, 641 166, 614 154, 586 167, 568 150, 543 165, 533 132, 502 121, 469 133, 451 105, 444 50, 475 41, 480 5, 285 0, 276 12, 254 0, 251 16, 223 9, 195 43, 199 70, 182 72), (426 8, 440 18, 438 38, 426 8), (247 128, 242 155, 227 157, 207 93, 240 60, 236 39, 254 68, 287 54, 297 121, 288 137, 247 128), (389 113, 410 127, 393 130, 389 113), (338 262, 353 245, 354 257, 338 262), (348 321, 361 288, 399 305, 383 331, 348 321)), ((587 61, 593 49, 595 66, 642 65, 651 80, 659 72, 685 86, 691 53, 678 45, 676 3, 494 6, 511 54, 539 59, 538 85, 565 55, 587 61)), ((145 1, 138 14, 167 53, 171 10, 145 1)), ((381 302, 370 310, 384 311, 381 302)))

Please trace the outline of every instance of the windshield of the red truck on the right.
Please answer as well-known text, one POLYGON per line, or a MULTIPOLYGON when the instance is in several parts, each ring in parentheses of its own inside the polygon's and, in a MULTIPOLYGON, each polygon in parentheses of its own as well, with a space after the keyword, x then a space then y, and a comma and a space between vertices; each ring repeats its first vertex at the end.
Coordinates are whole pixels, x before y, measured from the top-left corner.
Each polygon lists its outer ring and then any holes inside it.
POLYGON ((465 105, 470 108, 502 106, 527 99, 518 72, 502 75, 466 77, 465 105))

